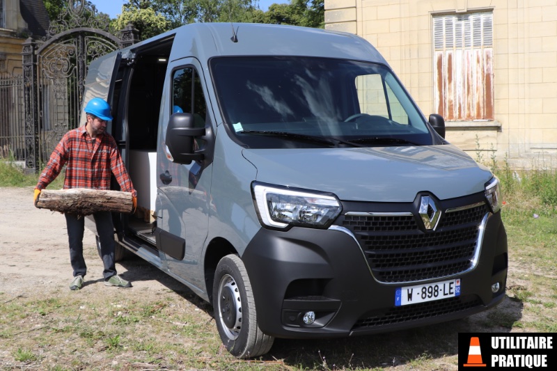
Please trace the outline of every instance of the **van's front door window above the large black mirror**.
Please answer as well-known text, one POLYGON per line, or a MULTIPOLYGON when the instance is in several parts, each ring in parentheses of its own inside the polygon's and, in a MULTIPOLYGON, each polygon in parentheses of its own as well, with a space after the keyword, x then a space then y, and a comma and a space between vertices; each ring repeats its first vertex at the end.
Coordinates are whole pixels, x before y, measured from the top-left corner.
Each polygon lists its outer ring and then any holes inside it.
POLYGON ((172 113, 191 113, 194 115, 195 127, 205 127, 207 104, 201 78, 194 68, 181 68, 173 72, 172 106, 172 113))

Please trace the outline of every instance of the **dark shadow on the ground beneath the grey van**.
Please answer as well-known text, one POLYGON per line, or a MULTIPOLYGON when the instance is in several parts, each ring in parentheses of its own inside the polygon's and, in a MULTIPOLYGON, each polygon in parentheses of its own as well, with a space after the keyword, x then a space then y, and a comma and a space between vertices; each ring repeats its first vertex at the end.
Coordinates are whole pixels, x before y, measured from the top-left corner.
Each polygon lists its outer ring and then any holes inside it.
MULTIPOLYGON (((212 316, 209 303, 148 262, 140 258, 128 258, 120 264, 127 269, 122 274, 126 280, 157 280, 212 316)), ((411 330, 338 339, 275 339, 271 351, 261 360, 280 360, 300 369, 386 368, 408 363, 419 369, 421 361, 438 358, 443 363, 443 358, 457 355, 458 333, 509 332, 512 324, 521 316, 521 301, 505 296, 499 306, 486 312, 411 330)), ((455 365, 439 365, 441 370, 451 368, 454 369, 455 365)))

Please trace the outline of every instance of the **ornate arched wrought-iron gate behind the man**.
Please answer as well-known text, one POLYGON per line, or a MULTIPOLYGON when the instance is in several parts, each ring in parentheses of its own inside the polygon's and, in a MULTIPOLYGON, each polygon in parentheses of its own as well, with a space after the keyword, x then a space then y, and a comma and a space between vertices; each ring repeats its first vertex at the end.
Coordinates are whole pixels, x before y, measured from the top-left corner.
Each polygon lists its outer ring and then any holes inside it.
POLYGON ((137 41, 132 26, 117 38, 108 32, 109 19, 95 13, 85 0, 70 0, 42 42, 24 42, 26 168, 40 171, 65 132, 79 127, 89 63, 137 41))

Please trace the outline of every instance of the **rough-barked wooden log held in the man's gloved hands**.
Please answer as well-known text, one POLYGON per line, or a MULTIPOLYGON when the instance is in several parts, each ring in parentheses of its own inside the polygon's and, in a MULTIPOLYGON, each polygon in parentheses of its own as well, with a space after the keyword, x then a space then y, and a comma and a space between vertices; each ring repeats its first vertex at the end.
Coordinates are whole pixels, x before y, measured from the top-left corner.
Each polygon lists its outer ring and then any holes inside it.
POLYGON ((131 213, 134 203, 130 192, 72 188, 59 191, 42 189, 35 206, 86 216, 100 211, 131 213))

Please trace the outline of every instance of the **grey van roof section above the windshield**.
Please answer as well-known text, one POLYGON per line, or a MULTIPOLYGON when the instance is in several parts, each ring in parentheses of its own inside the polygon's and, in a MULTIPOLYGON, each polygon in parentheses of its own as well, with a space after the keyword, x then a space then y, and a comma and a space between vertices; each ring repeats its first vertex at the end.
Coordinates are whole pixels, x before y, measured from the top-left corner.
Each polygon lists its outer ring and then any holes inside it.
POLYGON ((352 33, 277 24, 187 24, 127 49, 139 51, 171 37, 171 61, 186 56, 196 56, 201 63, 213 56, 320 56, 387 64, 375 47, 352 33))

